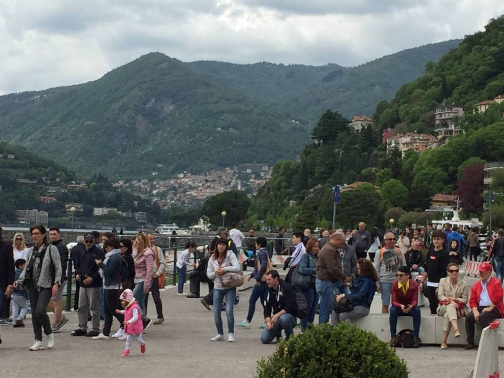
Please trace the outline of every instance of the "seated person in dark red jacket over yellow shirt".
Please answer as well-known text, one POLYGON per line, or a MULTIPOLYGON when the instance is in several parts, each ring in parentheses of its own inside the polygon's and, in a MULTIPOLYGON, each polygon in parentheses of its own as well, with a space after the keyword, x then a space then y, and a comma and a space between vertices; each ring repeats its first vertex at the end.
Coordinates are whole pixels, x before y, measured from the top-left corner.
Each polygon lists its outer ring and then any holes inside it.
POLYGON ((420 308, 418 308, 418 284, 410 279, 410 269, 407 266, 400 267, 396 273, 397 280, 392 284, 392 306, 390 307, 390 345, 396 346, 397 318, 413 317, 413 345, 420 346, 420 322, 422 320, 420 308))

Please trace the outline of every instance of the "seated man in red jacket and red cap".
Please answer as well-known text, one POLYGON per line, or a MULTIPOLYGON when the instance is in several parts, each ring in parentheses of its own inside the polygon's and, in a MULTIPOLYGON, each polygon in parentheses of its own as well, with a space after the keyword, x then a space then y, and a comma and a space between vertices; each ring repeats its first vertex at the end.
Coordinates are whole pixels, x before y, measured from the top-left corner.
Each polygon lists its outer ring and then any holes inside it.
POLYGON ((474 324, 477 322, 481 329, 489 326, 497 318, 504 315, 504 303, 502 303, 502 286, 500 281, 491 277, 492 266, 489 263, 481 263, 479 277, 471 288, 469 307, 471 312, 466 317, 467 345, 466 349, 474 349, 474 324))

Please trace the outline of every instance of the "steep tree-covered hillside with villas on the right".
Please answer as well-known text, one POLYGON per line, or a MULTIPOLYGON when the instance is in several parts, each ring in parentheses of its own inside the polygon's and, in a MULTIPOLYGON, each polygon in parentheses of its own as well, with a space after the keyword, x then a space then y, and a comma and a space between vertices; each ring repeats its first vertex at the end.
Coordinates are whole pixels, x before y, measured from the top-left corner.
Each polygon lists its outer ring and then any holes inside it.
MULTIPOLYGON (((377 104, 378 128, 355 133, 340 114, 325 112, 312 132, 312 138, 323 143, 307 145, 299 162, 274 166, 272 178, 251 202, 250 223, 265 219, 266 225, 280 226, 309 213, 319 225, 330 226, 331 187, 355 181, 374 183, 381 192, 362 185, 342 193, 336 216, 339 227, 355 227, 360 220, 390 226, 389 218, 399 219, 401 227, 425 224, 434 215, 423 210, 436 193, 456 193, 467 217, 487 219, 482 163, 504 160, 504 139, 499 137, 504 133, 504 102, 490 105, 484 113, 473 112, 473 105, 504 94, 504 16, 491 20, 484 32, 466 36, 459 47, 426 68, 425 75, 402 86, 390 104, 377 104), (465 116, 458 125, 465 134, 420 155, 387 154, 383 129, 431 132, 434 108, 443 101, 464 105, 465 116), (298 205, 292 206, 292 201, 298 205)), ((504 193, 504 183, 493 190, 504 193)), ((504 226, 504 202, 495 212, 500 218, 493 224, 504 226)))

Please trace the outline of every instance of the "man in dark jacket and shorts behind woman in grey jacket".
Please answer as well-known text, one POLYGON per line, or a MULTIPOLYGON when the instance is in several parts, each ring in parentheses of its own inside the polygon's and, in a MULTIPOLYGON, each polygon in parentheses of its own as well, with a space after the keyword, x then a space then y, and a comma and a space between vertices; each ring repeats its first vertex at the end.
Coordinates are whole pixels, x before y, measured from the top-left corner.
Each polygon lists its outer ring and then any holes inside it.
POLYGON ((65 281, 67 280, 69 254, 67 245, 61 239, 61 232, 58 227, 49 228, 49 239, 51 240, 51 244, 58 248, 59 259, 61 261, 61 285, 59 285, 57 294, 53 295, 51 301, 49 302, 49 309, 54 312, 52 333, 59 333, 61 327, 68 323, 68 318, 66 316, 61 316, 63 312, 61 299, 63 298, 63 290, 65 288, 65 281))

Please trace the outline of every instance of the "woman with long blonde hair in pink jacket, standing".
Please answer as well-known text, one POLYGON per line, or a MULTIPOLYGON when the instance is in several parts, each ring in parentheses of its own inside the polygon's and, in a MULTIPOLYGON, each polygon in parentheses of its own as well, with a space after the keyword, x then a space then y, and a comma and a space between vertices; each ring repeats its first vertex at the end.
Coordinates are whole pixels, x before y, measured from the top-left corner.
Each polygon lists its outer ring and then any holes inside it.
POLYGON ((142 321, 146 330, 152 321, 145 312, 145 296, 149 293, 152 283, 152 267, 154 264, 154 251, 150 248, 147 235, 139 233, 133 242, 133 255, 135 256, 135 288, 133 296, 142 310, 142 321))

